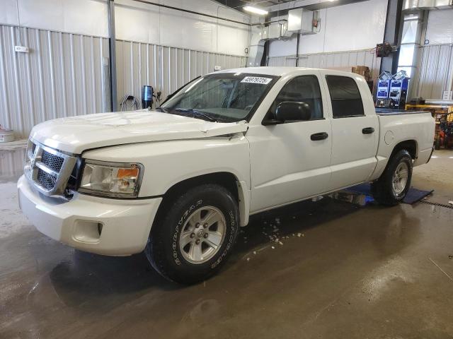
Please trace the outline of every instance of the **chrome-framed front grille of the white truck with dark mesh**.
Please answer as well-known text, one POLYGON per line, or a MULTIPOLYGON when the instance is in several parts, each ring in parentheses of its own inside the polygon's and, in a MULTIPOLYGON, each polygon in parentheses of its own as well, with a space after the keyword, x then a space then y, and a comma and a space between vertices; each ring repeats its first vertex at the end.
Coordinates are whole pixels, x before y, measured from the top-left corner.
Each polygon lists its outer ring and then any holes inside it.
POLYGON ((47 196, 64 196, 77 157, 64 154, 34 141, 28 141, 25 176, 47 196))

